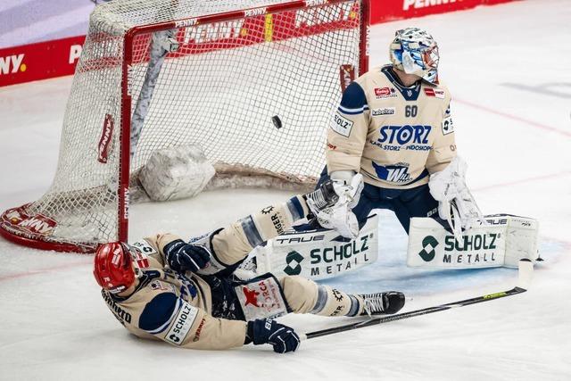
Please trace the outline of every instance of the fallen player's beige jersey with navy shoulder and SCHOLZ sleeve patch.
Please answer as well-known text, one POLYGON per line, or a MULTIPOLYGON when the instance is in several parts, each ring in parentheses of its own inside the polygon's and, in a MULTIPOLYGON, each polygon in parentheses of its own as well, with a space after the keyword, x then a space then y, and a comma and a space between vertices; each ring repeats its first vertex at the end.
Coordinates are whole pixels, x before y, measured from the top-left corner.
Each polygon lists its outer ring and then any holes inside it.
POLYGON ((210 315, 211 288, 191 272, 164 268, 162 248, 178 236, 158 235, 137 244, 144 255, 139 285, 127 298, 102 290, 103 299, 129 332, 187 348, 227 349, 244 344, 246 323, 210 315))

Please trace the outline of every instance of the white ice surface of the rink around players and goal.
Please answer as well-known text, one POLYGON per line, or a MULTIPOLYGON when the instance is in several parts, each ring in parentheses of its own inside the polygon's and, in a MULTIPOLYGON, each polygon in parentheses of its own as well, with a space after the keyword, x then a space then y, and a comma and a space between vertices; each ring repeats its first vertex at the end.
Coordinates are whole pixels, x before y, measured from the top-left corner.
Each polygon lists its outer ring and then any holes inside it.
MULTIPOLYGON (((138 340, 107 310, 91 256, 45 253, 0 238, 0 379, 571 379, 571 3, 525 1, 372 28, 372 65, 386 62, 395 29, 417 25, 441 46, 459 152, 485 213, 541 221, 529 292, 304 342, 185 351, 138 340)), ((70 79, 0 88, 0 209, 50 185, 70 79)), ((130 236, 194 236, 285 192, 216 191, 133 208, 130 236), (152 219, 145 219, 153 216, 152 219)), ((382 213, 380 260, 327 283, 347 291, 398 289, 404 311, 511 288, 511 269, 420 271, 405 266, 406 236, 382 213)), ((299 331, 343 319, 288 316, 299 331)))

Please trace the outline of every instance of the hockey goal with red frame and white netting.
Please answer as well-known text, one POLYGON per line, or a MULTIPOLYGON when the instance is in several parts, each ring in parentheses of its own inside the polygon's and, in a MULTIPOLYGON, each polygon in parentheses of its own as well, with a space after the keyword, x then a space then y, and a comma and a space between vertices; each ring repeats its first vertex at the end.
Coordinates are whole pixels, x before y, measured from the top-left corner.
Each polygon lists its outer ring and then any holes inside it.
POLYGON ((198 145, 227 174, 315 181, 343 87, 367 70, 367 33, 368 0, 98 5, 54 182, 4 211, 0 234, 85 253, 127 240, 129 184, 169 147, 198 145))

